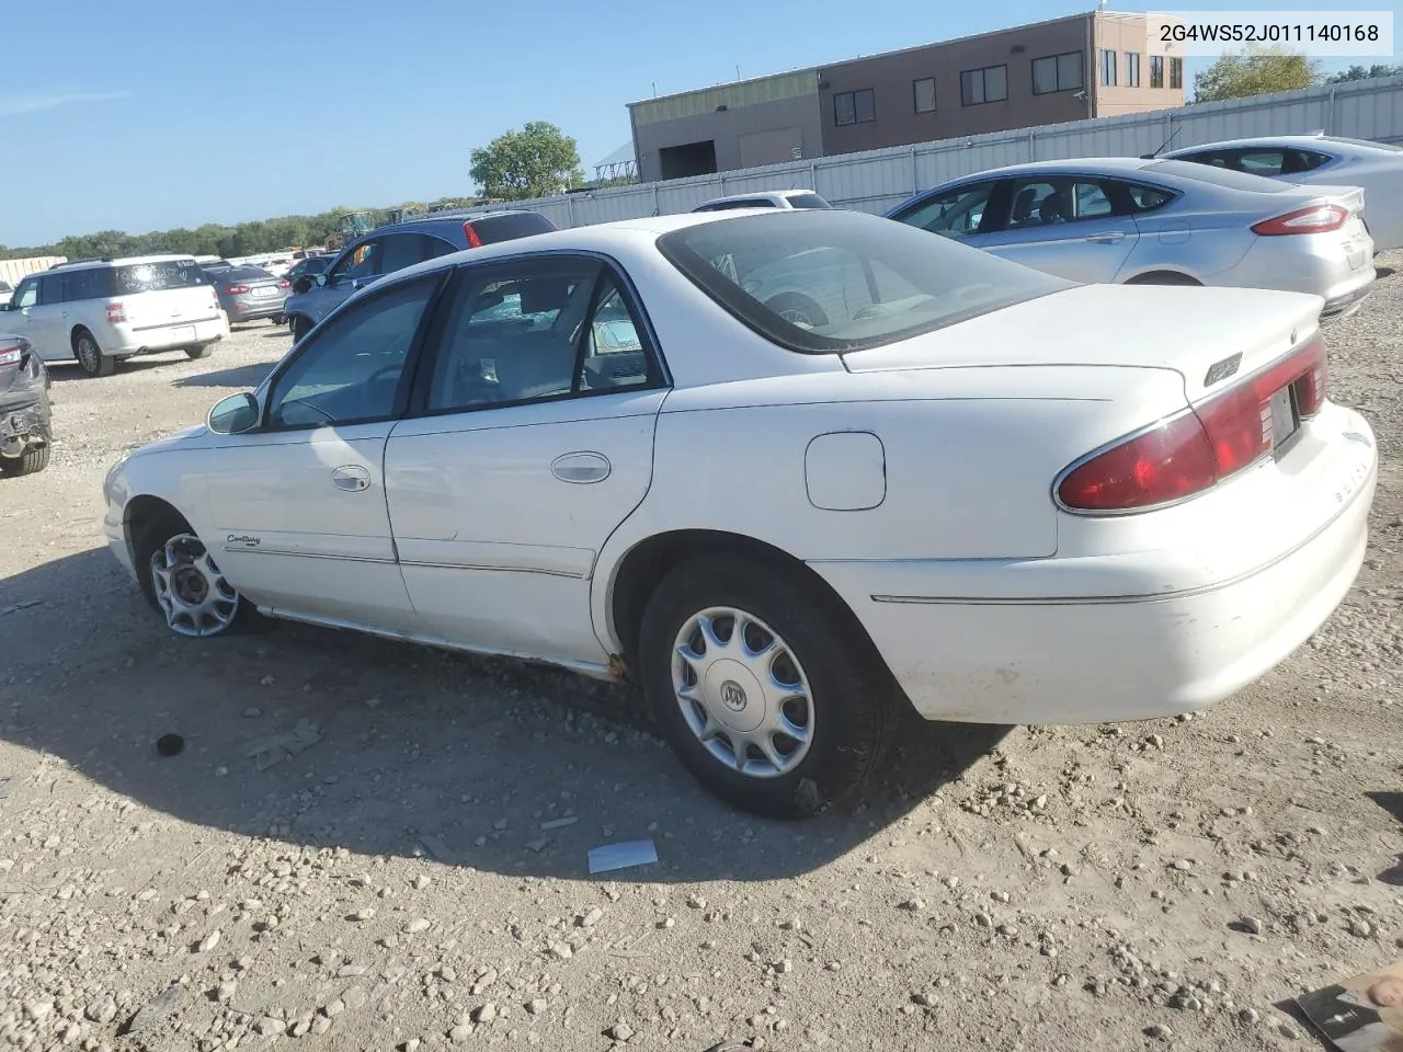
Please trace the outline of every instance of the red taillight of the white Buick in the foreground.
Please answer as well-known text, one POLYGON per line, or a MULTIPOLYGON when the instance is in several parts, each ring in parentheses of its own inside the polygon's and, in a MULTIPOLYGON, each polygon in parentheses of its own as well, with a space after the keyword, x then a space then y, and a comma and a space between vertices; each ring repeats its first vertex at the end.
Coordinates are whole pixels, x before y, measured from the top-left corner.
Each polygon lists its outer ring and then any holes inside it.
POLYGON ((1271 453, 1271 398, 1282 387, 1291 387, 1302 419, 1320 412, 1326 398, 1320 337, 1191 411, 1078 464, 1058 484, 1058 501, 1072 511, 1127 512, 1216 485, 1271 453))

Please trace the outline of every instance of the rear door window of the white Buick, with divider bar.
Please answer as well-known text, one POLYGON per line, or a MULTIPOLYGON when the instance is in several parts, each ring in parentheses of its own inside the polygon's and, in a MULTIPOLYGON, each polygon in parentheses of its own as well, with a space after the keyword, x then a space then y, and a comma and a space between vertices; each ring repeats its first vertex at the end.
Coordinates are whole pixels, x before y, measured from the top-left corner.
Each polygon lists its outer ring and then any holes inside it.
POLYGON ((637 311, 595 259, 463 272, 428 391, 429 412, 519 405, 648 384, 637 311))

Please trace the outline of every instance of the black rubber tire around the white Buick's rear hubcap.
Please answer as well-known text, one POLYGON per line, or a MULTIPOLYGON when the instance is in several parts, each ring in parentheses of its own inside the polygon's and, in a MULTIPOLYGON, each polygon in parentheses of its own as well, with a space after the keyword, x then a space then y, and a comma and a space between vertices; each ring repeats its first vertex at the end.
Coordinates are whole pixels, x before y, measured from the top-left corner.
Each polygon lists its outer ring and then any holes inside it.
POLYGON ((725 802, 766 818, 801 819, 856 798, 895 729, 895 682, 857 619, 798 572, 758 561, 702 557, 671 571, 644 610, 637 663, 658 728, 683 766, 725 802), (683 715, 673 687, 676 638, 709 607, 759 619, 804 670, 811 741, 793 770, 744 774, 713 755, 683 715))

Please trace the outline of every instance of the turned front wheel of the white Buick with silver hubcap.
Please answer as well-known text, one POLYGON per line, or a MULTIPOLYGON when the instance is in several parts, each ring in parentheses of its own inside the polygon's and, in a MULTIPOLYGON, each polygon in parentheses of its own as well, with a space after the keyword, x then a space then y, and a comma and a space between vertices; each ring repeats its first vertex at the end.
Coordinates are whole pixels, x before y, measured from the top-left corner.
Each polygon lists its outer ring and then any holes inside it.
POLYGON ((178 515, 147 526, 133 554, 142 592, 175 635, 227 635, 261 620, 178 515))

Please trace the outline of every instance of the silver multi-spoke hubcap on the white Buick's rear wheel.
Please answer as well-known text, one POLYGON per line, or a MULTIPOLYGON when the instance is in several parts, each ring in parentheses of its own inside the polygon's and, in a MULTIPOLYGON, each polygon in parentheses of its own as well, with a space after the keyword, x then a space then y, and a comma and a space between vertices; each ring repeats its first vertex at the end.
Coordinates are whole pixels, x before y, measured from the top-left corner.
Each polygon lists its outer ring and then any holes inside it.
POLYGON ((814 738, 808 679, 788 644, 744 610, 711 607, 682 626, 672 687, 682 718, 720 763, 755 778, 794 770, 814 738))

